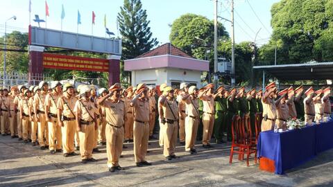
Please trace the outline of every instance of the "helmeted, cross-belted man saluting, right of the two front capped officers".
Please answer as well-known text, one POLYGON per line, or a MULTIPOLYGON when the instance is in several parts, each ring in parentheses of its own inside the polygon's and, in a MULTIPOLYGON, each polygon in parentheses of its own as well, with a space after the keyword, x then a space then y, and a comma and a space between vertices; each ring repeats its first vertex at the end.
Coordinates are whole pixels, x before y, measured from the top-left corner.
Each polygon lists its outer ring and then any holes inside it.
POLYGON ((163 109, 162 123, 164 123, 163 155, 167 160, 176 159, 176 142, 178 133, 178 105, 174 100, 173 89, 165 87, 160 105, 163 109))

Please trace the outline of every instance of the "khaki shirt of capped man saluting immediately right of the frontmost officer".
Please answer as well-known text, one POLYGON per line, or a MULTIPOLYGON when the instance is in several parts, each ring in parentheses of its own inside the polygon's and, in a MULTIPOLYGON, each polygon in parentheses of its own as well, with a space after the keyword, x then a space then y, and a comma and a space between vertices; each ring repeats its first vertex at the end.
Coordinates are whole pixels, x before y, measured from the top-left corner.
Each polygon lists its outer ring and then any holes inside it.
POLYGON ((149 100, 135 100, 133 103, 134 119, 142 122, 149 122, 150 119, 150 107, 149 100))

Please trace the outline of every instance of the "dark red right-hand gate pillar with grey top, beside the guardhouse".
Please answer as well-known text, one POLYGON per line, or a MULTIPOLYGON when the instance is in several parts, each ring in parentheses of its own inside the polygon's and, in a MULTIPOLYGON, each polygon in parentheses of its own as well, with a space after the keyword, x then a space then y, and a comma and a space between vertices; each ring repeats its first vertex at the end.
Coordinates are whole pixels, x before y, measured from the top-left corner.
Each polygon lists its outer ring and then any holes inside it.
POLYGON ((109 55, 109 87, 116 82, 120 82, 120 58, 119 55, 109 55))

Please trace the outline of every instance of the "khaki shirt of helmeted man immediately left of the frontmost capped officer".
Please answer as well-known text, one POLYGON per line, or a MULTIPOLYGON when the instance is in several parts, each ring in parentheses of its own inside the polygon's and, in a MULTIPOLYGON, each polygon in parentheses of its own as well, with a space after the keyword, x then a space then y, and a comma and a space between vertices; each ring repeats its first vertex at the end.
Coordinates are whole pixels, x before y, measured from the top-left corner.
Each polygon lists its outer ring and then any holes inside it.
POLYGON ((93 121, 94 114, 97 114, 97 108, 94 103, 92 103, 89 98, 85 100, 84 98, 77 100, 74 112, 78 112, 80 116, 78 116, 83 121, 93 121))

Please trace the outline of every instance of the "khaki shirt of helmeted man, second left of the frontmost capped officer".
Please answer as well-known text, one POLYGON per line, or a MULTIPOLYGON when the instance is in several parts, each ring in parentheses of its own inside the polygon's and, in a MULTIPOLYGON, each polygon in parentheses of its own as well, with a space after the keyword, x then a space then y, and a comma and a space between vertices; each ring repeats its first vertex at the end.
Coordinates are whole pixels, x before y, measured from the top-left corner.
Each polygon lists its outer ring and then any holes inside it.
POLYGON ((57 107, 62 110, 62 115, 67 118, 75 118, 74 107, 75 103, 78 100, 75 96, 67 98, 68 94, 64 94, 58 99, 57 107))

